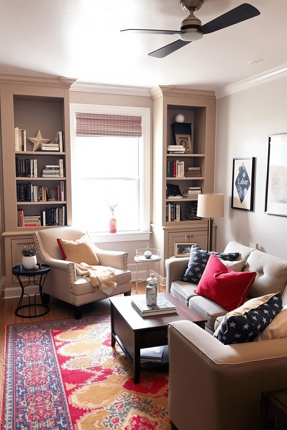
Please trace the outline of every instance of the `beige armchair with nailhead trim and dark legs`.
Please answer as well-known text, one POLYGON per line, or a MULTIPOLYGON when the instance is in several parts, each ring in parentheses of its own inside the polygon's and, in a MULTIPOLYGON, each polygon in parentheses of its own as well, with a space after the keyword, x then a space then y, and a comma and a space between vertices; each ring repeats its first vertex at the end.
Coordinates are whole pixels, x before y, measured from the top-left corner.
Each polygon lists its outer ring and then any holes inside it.
MULTIPOLYGON (((74 263, 62 258, 57 239, 77 240, 83 233, 87 233, 86 230, 74 227, 55 227, 34 232, 37 262, 51 266, 43 287, 44 298, 49 302, 51 295, 74 305, 76 319, 81 318, 82 305, 109 297, 105 292, 95 289, 86 277, 77 276, 74 263)), ((110 296, 130 295, 132 275, 127 270, 127 252, 105 251, 96 247, 96 254, 101 266, 114 268, 117 287, 110 296)))

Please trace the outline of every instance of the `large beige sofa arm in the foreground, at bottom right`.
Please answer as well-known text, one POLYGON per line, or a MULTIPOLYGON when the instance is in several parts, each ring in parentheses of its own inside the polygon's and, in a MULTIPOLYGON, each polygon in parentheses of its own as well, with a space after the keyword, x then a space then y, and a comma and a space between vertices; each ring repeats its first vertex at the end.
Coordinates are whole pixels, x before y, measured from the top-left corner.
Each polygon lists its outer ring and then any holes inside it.
POLYGON ((287 338, 224 345, 189 321, 170 323, 168 336, 173 424, 259 430, 261 393, 286 386, 287 338))

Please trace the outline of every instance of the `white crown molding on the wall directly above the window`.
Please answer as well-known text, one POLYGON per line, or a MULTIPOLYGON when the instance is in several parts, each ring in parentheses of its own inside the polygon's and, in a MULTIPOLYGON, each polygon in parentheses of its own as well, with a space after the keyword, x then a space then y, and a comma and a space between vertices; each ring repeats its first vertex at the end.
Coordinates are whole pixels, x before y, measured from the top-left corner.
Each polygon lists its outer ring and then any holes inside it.
POLYGON ((71 91, 100 92, 103 94, 141 95, 150 97, 150 88, 139 86, 102 85, 98 83, 76 82, 71 91))

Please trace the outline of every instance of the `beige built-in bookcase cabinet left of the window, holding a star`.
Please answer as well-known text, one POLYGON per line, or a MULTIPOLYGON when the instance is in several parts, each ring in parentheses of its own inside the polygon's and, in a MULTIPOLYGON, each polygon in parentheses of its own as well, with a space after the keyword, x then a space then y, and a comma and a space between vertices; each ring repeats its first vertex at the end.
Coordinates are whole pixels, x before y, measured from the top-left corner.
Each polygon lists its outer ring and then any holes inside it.
MULTIPOLYGON (((37 226, 21 226, 19 214, 25 217, 35 217, 52 213, 54 220, 57 215, 58 225, 71 225, 71 157, 70 157, 70 113, 69 88, 74 80, 68 78, 30 78, 1 75, 0 76, 0 106, 1 106, 1 138, 3 163, 4 190, 4 221, 3 232, 6 256, 6 288, 5 296, 12 297, 16 287, 12 277, 12 267, 21 263, 21 247, 24 243, 33 242, 34 230, 53 228, 46 219, 44 224, 37 226), (15 144, 15 128, 25 130, 26 145, 24 151, 19 151, 15 144), (28 139, 35 138, 38 131, 42 138, 56 143, 57 133, 64 132, 65 147, 62 151, 33 151, 34 144, 28 139), (31 162, 33 160, 33 162, 31 162), (61 177, 42 177, 46 166, 62 164, 64 173, 61 177), (29 167, 29 176, 21 175, 19 166, 29 167), (37 166, 37 172, 31 169, 37 166), (61 185, 64 190, 60 199, 47 200, 39 197, 37 201, 19 201, 19 189, 25 185, 31 190, 55 191, 61 185), (36 188, 37 187, 37 188, 36 188), (58 215, 65 217, 60 223, 58 215), (48 227, 49 225, 49 227, 48 227), (10 289, 10 291, 9 291, 10 289)), ((22 148, 23 149, 23 148, 22 148)), ((22 187, 23 189, 23 187, 22 187)), ((23 199, 22 199, 23 200, 23 199)), ((33 224, 33 221, 30 222, 33 224)), ((29 224, 28 222, 26 224, 29 224)), ((42 222, 43 224, 43 222, 42 222)))

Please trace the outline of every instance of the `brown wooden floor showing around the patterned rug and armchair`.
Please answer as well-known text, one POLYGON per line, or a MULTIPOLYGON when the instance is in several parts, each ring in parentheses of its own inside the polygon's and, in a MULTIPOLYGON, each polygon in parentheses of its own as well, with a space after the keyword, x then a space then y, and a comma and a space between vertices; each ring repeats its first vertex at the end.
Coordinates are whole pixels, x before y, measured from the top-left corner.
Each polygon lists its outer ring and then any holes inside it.
MULTIPOLYGON (((146 282, 138 283, 138 293, 145 294, 146 282)), ((160 291, 166 291, 165 287, 160 286, 160 291)), ((132 283, 132 295, 136 294, 136 283, 132 283)), ((50 311, 44 316, 37 318, 21 318, 15 315, 15 309, 19 298, 0 300, 0 393, 3 385, 3 365, 4 365, 4 344, 5 327, 10 324, 25 324, 26 322, 52 321, 55 319, 74 318, 72 305, 51 297, 49 302, 50 311)), ((99 300, 94 303, 86 304, 83 307, 82 316, 93 316, 95 313, 108 313, 110 311, 110 301, 107 299, 99 300)), ((0 399, 1 402, 2 399, 0 399)))

